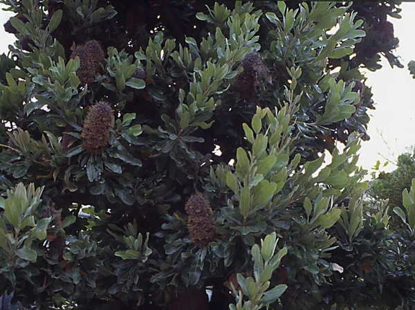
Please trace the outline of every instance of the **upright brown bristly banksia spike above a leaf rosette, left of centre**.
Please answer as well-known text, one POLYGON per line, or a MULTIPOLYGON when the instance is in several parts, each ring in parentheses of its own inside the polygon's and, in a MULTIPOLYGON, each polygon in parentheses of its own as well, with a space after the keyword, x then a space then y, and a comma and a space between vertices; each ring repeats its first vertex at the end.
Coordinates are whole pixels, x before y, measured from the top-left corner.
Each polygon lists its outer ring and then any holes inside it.
POLYGON ((113 110, 107 102, 98 102, 89 110, 82 129, 82 145, 89 154, 98 155, 108 147, 109 131, 113 127, 113 110))

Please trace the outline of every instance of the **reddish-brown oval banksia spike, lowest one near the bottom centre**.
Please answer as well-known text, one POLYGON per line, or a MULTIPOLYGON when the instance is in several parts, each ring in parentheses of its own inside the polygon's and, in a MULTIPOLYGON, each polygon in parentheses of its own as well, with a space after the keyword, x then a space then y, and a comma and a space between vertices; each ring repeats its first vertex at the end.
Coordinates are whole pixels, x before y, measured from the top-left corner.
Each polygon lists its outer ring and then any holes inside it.
POLYGON ((188 215, 187 228, 192 242, 199 248, 205 248, 213 241, 216 230, 212 208, 210 208, 208 200, 203 197, 203 194, 192 194, 187 199, 185 210, 188 215))

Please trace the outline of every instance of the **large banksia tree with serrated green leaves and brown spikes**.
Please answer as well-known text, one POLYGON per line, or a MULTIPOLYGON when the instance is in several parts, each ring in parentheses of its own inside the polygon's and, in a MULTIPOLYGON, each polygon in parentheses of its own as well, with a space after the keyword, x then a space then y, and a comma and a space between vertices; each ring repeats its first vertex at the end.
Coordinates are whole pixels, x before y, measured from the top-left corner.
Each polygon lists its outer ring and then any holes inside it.
POLYGON ((413 307, 357 154, 360 43, 396 6, 225 2, 7 2, 26 18, 0 57, 10 307, 413 307))

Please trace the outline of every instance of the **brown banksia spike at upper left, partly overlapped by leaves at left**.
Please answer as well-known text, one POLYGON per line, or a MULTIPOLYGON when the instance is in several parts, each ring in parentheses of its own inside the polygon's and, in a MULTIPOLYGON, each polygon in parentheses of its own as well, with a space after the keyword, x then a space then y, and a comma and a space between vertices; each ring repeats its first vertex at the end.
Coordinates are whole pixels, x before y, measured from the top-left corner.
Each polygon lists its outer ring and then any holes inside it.
POLYGON ((91 40, 84 45, 75 47, 71 58, 80 57, 80 67, 76 71, 81 84, 89 84, 95 80, 95 74, 100 71, 101 63, 105 60, 104 51, 100 44, 91 40))

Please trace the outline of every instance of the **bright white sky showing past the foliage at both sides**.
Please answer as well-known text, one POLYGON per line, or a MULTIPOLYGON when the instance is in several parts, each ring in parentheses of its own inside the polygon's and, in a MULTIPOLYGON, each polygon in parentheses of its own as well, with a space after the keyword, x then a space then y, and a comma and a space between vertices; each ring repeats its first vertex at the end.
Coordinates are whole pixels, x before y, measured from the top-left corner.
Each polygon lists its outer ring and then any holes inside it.
MULTIPOLYGON (((4 8, 0 4, 0 8, 4 8)), ((372 73, 367 71, 367 86, 372 86, 376 110, 370 111, 368 134, 371 140, 362 142, 360 165, 371 170, 382 156, 394 160, 398 154, 415 145, 415 80, 409 75, 407 63, 415 60, 415 3, 402 3, 402 19, 391 19, 395 35, 400 39, 396 54, 402 57, 405 69, 391 69, 382 57, 383 68, 372 73)), ((0 10, 0 53, 8 52, 8 45, 15 41, 15 36, 6 33, 2 25, 11 16, 10 12, 0 10)), ((385 170, 393 170, 388 165, 385 170)))

